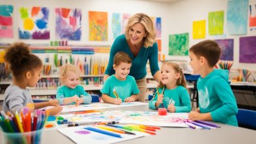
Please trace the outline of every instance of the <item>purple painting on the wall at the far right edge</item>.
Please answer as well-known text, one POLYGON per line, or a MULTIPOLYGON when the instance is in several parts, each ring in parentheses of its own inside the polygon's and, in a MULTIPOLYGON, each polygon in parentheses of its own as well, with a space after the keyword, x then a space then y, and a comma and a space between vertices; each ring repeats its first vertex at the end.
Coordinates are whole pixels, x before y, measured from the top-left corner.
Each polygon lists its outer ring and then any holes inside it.
POLYGON ((256 37, 240 37, 239 62, 256 63, 256 37))

